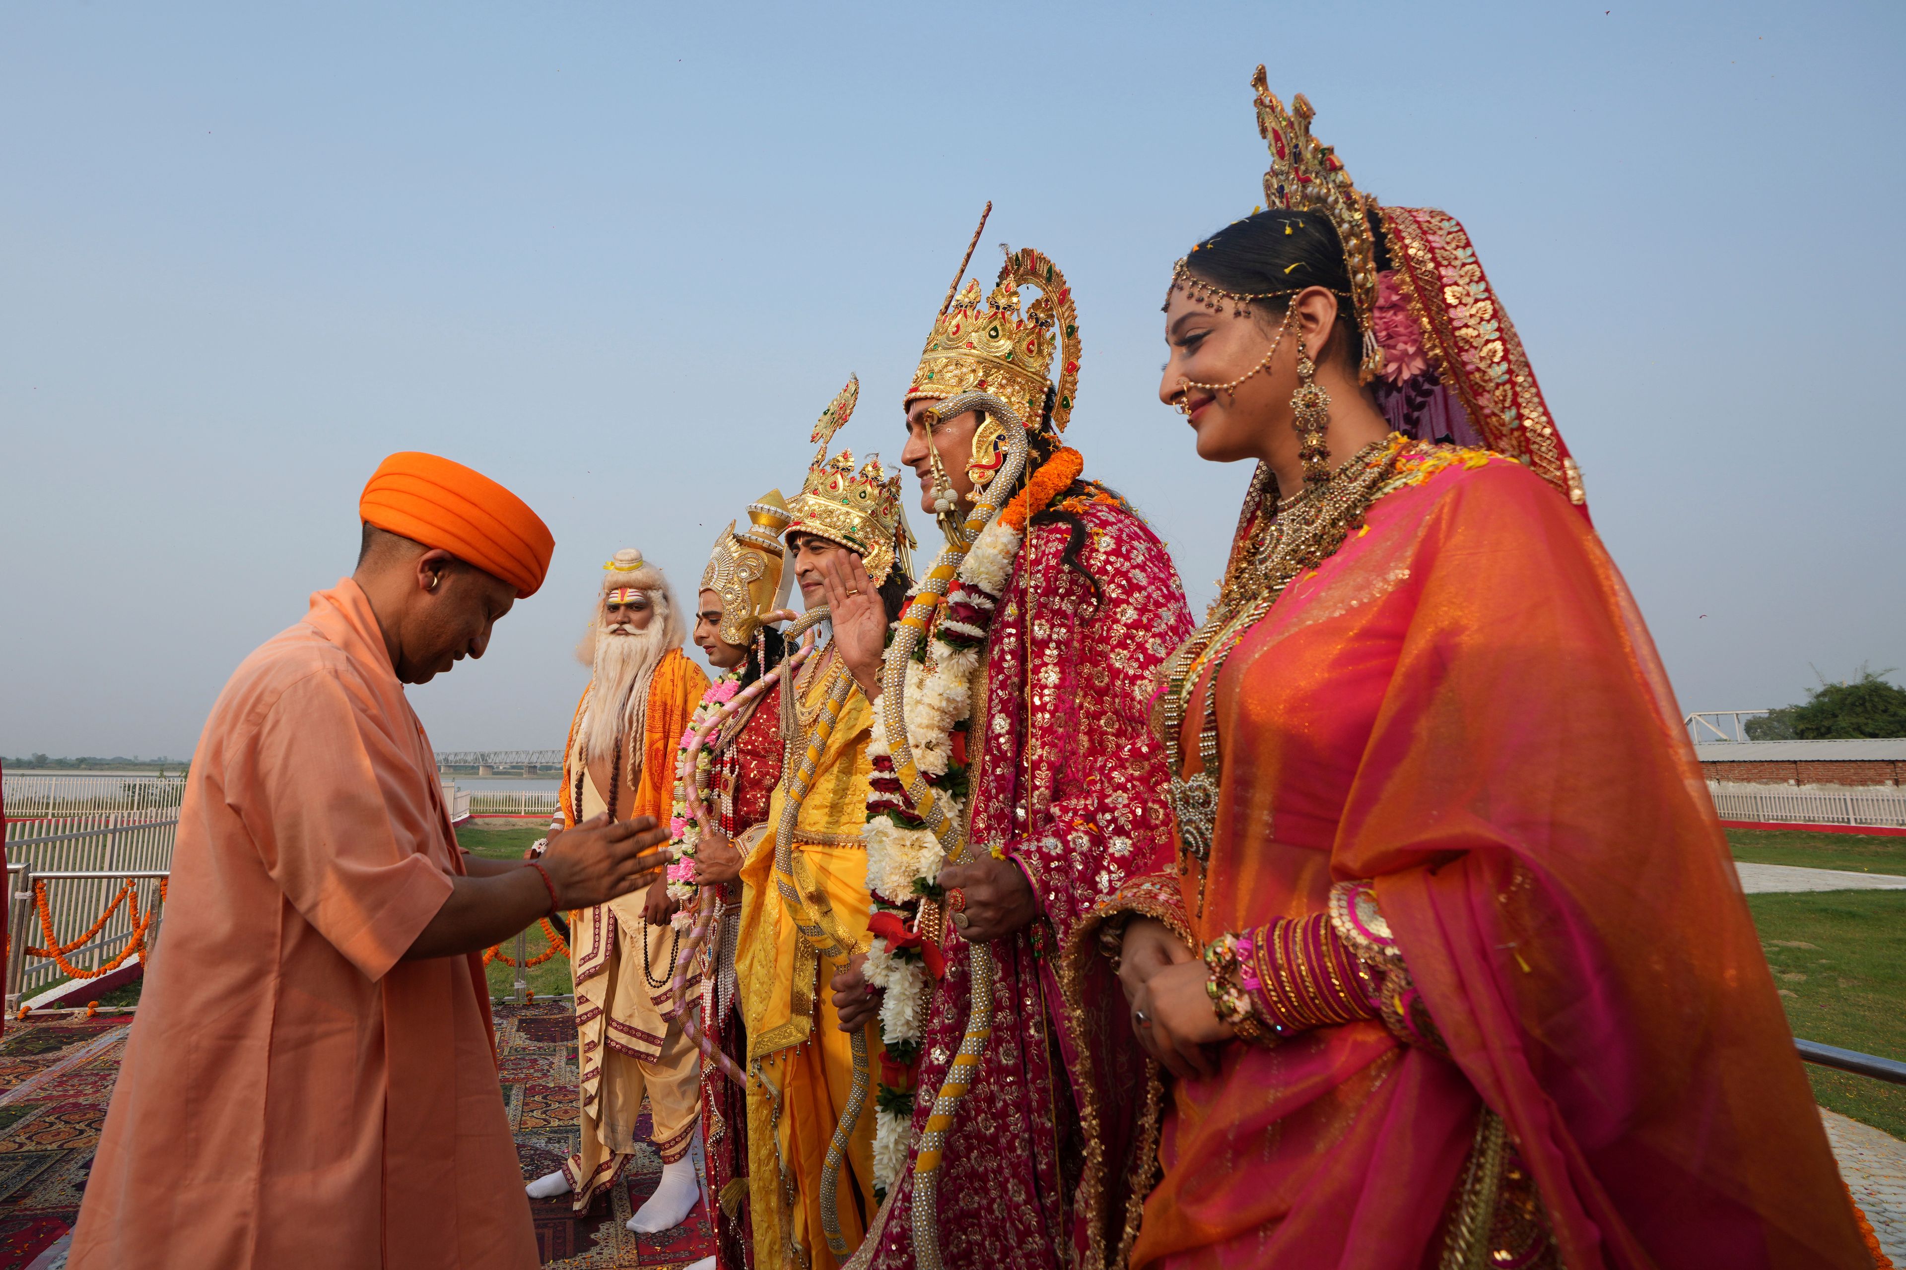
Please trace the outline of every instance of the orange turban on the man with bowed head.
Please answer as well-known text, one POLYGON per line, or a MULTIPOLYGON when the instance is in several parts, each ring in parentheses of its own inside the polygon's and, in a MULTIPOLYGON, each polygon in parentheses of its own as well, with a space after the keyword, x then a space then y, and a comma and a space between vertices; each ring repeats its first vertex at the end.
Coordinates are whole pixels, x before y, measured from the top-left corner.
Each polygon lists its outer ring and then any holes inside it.
POLYGON ((482 472, 417 451, 377 465, 358 520, 436 546, 517 586, 526 600, 549 573, 557 539, 530 505, 482 472))

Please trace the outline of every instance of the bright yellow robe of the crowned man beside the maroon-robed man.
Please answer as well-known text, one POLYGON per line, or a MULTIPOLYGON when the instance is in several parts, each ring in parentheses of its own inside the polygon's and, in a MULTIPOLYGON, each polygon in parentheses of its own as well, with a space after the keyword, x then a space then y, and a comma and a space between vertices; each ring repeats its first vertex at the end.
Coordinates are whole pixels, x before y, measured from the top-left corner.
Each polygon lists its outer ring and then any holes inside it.
MULTIPOLYGON (((808 666, 797 680, 804 716, 825 703, 833 676, 846 674, 833 649, 812 657, 808 666)), ((867 849, 860 828, 867 821, 871 737, 873 710, 860 687, 852 687, 814 769, 793 834, 799 920, 837 933, 850 952, 867 948, 867 849)), ((821 1161, 841 1123, 854 1070, 850 1038, 841 1030, 829 986, 842 962, 820 956, 774 883, 774 832, 802 754, 797 746, 774 790, 768 832, 741 870, 745 889, 736 996, 747 1026, 749 1062, 759 1064, 781 1093, 776 1102, 760 1089, 747 1091, 755 1270, 793 1268, 789 1243, 802 1249, 812 1270, 837 1264, 823 1238, 820 1184, 821 1161)), ((879 1072, 881 1061, 879 1021, 869 1021, 865 1034, 869 1097, 848 1141, 839 1190, 841 1234, 848 1251, 860 1245, 875 1211, 871 1074, 879 1072)))

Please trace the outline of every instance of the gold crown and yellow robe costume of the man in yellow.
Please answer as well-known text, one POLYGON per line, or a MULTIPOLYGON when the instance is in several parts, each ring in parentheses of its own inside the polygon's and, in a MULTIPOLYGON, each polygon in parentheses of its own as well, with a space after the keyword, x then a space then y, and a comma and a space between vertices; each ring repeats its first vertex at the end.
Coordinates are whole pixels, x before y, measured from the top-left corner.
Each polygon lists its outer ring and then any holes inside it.
MULTIPOLYGON (((852 451, 827 459, 856 392, 858 383, 850 383, 821 415, 814 432, 820 455, 789 506, 787 545, 808 609, 825 604, 821 571, 829 556, 852 552, 879 585, 888 615, 898 617, 911 585, 900 478, 886 480, 879 459, 856 472, 852 451)), ((825 625, 810 640, 821 647, 783 697, 793 714, 793 746, 768 807, 770 832, 741 870, 736 981, 749 1070, 760 1078, 747 1095, 757 1270, 833 1270, 860 1245, 877 1205, 867 1089, 881 1061, 879 1024, 871 1002, 856 996, 842 1011, 831 992, 833 977, 867 946, 867 851, 860 834, 873 771, 873 710, 831 647, 825 625), (842 1030, 842 1019, 852 1030, 842 1030), (829 1171, 829 1142, 852 1110, 856 1085, 860 1106, 842 1160, 829 1171), (825 1194, 829 1175, 833 1203, 825 1194), (829 1230, 835 1222, 837 1230, 829 1230)))

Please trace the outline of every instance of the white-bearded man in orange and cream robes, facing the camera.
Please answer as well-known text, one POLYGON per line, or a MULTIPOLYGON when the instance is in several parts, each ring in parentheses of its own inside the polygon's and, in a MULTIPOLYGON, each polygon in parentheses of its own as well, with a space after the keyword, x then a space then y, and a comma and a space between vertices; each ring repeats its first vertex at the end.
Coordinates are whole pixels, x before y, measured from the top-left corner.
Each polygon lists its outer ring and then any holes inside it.
MULTIPOLYGON (((701 666, 682 655, 684 636, 682 609, 661 569, 639 550, 616 552, 602 566, 602 586, 576 649, 595 674, 576 703, 551 828, 604 809, 669 819, 675 744, 709 685, 701 666)), ((578 1213, 589 1207, 635 1156, 635 1121, 646 1093, 661 1181, 627 1222, 637 1234, 679 1226, 701 1196, 701 1061, 675 1019, 671 979, 682 931, 671 923, 673 914, 665 878, 656 878, 642 897, 574 914, 581 1142, 560 1169, 528 1186, 536 1200, 568 1192, 578 1213)), ((690 973, 680 1005, 696 1003, 700 982, 700 973, 690 973)))

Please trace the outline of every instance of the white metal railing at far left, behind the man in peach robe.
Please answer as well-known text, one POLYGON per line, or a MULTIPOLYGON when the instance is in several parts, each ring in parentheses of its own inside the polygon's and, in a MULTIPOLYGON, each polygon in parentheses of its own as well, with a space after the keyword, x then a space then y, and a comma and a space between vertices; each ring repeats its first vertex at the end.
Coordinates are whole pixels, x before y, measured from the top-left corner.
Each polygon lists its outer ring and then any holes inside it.
MULTIPOLYGON (((11 813, 11 805, 8 807, 11 813)), ((11 815, 10 815, 11 821, 11 815)), ((8 958, 6 1007, 17 1009, 23 996, 51 986, 65 977, 50 956, 27 956, 27 946, 44 946, 46 931, 34 903, 34 882, 44 880, 46 910, 55 943, 86 931, 128 880, 141 912, 152 912, 147 950, 158 937, 158 880, 172 870, 172 847, 179 832, 179 813, 65 815, 10 823, 8 859, 8 958)), ((78 969, 99 969, 132 941, 132 904, 122 903, 107 923, 82 946, 65 954, 78 969)))

